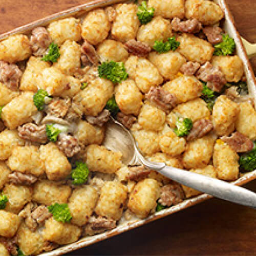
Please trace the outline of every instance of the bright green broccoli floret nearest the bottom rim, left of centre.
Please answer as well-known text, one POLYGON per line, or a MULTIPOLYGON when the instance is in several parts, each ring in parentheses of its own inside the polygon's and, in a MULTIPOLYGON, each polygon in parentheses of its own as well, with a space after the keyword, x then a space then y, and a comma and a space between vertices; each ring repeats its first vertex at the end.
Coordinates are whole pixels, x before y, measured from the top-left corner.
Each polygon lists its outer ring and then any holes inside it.
POLYGON ((72 219, 68 204, 52 204, 48 206, 48 210, 53 215, 54 220, 60 222, 70 222, 72 219))

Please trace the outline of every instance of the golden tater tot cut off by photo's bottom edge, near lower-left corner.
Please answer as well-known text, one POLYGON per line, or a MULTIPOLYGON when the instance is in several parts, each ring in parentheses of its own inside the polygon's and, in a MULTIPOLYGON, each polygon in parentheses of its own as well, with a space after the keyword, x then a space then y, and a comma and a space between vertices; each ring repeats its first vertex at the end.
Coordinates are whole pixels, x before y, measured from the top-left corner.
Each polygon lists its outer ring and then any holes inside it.
POLYGON ((32 232, 25 222, 23 222, 17 231, 17 240, 19 249, 25 255, 34 255, 40 253, 46 244, 39 231, 32 232))

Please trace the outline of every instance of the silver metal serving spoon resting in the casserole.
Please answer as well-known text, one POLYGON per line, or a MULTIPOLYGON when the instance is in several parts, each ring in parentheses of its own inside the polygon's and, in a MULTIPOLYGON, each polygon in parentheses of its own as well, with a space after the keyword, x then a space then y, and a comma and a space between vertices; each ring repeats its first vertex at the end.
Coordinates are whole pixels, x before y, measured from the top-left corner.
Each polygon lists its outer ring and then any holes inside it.
POLYGON ((256 194, 248 189, 187 170, 167 166, 165 163, 148 161, 141 154, 131 132, 113 117, 106 125, 103 145, 109 150, 121 152, 122 162, 126 165, 143 164, 148 169, 156 170, 156 172, 169 179, 208 195, 256 208, 256 194))

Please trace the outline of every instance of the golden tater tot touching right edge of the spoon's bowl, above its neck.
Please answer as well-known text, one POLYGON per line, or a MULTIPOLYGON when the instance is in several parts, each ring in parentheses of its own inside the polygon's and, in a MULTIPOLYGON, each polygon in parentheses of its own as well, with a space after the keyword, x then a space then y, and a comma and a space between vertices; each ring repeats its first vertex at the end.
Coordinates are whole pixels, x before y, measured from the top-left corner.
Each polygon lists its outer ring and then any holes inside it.
POLYGON ((160 151, 159 134, 154 131, 146 131, 136 123, 131 129, 140 151, 144 155, 151 156, 160 151))

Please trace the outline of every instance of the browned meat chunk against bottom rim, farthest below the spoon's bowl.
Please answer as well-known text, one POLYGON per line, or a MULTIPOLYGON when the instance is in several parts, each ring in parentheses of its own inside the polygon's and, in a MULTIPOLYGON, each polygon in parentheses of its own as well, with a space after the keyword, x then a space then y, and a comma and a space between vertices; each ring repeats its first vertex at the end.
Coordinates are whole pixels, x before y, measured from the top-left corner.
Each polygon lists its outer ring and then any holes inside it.
POLYGON ((110 218, 104 217, 94 217, 92 216, 89 219, 88 224, 86 225, 85 232, 89 236, 93 234, 102 233, 105 230, 111 230, 116 227, 116 221, 110 218))

